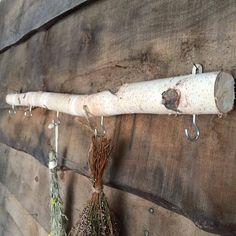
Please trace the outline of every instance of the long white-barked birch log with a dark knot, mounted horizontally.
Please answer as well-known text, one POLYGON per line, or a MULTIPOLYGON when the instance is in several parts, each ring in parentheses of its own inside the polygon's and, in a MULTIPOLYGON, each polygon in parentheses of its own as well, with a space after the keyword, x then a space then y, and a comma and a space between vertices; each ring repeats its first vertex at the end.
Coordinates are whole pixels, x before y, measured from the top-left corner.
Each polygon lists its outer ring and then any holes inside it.
POLYGON ((234 79, 226 72, 184 75, 123 84, 116 93, 103 91, 91 95, 50 92, 9 94, 6 102, 14 106, 42 107, 85 116, 112 116, 128 113, 219 114, 234 104, 234 79))

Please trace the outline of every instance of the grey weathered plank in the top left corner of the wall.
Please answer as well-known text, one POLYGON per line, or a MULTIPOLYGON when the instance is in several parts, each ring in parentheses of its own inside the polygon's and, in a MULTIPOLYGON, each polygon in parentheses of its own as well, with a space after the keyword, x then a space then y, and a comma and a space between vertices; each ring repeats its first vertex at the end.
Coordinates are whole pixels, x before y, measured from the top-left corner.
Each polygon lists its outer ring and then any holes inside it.
POLYGON ((0 1, 0 52, 51 26, 87 1, 0 1))

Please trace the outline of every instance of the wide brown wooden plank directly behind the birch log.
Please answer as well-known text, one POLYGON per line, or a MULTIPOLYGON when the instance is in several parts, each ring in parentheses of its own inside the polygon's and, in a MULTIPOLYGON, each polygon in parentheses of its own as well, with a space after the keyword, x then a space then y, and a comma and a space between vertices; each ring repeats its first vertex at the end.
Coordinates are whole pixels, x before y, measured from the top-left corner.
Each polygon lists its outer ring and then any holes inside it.
MULTIPOLYGON (((95 2, 0 55, 0 100, 8 92, 29 90, 113 90, 129 81, 190 73, 193 62, 236 76, 235 12, 231 0, 95 2)), ((0 140, 46 163, 51 119, 40 109, 30 122, 22 112, 9 119, 2 110, 0 140)), ((87 174, 90 135, 81 120, 61 119, 64 163, 87 174)), ((115 148, 106 181, 164 204, 206 230, 235 232, 236 112, 223 120, 197 120, 201 139, 189 143, 183 136, 190 125, 186 117, 107 119, 115 148)))

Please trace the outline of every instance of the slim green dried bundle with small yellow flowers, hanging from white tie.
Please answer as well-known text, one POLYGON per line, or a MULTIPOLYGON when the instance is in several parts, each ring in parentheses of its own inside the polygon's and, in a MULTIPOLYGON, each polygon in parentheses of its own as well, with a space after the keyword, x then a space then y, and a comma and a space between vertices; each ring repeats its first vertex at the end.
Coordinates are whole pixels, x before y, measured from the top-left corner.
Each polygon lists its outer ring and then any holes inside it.
POLYGON ((50 169, 50 210, 51 232, 49 236, 66 236, 65 222, 67 217, 63 213, 63 201, 60 196, 59 181, 57 175, 57 158, 54 151, 49 153, 50 169))

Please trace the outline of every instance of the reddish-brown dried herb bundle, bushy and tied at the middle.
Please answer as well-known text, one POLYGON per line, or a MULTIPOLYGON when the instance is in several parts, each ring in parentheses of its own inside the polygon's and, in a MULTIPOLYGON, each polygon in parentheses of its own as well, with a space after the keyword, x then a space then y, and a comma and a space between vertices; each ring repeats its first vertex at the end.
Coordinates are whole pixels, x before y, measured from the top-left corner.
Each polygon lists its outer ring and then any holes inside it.
POLYGON ((72 228, 73 236, 117 236, 118 227, 103 192, 103 174, 111 153, 111 140, 93 136, 89 166, 93 181, 93 194, 81 214, 80 221, 72 228))

